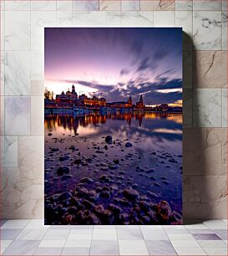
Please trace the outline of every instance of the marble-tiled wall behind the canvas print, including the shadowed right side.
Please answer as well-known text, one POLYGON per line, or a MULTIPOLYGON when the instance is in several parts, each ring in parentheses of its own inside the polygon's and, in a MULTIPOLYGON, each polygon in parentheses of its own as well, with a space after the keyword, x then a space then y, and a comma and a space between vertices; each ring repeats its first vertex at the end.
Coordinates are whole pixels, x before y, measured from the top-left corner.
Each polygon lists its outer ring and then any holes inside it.
POLYGON ((1 218, 43 217, 43 28, 183 27, 184 216, 226 218, 227 1, 1 1, 1 218))

